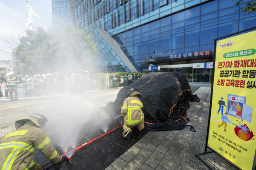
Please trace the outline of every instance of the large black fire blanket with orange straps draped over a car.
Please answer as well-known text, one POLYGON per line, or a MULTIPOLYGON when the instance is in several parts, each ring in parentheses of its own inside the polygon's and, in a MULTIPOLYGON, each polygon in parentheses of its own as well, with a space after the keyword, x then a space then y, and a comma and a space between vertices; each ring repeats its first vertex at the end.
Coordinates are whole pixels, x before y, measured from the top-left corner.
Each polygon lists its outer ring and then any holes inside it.
POLYGON ((148 130, 181 130, 189 122, 186 117, 190 102, 200 102, 192 95, 186 77, 178 72, 149 73, 122 88, 114 102, 104 108, 111 117, 119 116, 128 91, 137 88, 142 97, 144 124, 148 130))

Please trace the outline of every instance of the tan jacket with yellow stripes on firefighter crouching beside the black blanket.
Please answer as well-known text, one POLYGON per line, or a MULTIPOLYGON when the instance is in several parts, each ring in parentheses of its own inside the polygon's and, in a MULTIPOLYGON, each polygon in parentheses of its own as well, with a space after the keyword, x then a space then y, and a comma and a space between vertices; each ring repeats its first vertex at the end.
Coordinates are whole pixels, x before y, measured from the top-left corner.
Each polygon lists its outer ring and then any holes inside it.
POLYGON ((121 108, 121 114, 128 125, 137 125, 144 119, 143 104, 137 96, 134 96, 137 94, 140 95, 138 91, 132 92, 131 97, 125 99, 121 108))

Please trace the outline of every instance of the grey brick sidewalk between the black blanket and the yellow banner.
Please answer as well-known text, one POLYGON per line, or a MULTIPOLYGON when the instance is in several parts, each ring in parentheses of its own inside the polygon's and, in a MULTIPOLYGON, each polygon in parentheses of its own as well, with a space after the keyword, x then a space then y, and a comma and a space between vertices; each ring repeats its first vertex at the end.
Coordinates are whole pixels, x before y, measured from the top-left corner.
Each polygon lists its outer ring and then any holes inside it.
MULTIPOLYGON (((210 87, 194 94, 201 99, 191 103, 187 112, 196 132, 185 127, 180 131, 150 131, 105 170, 207 170, 195 157, 204 152, 209 114, 210 87)), ((213 169, 235 170, 214 153, 203 155, 213 169)))

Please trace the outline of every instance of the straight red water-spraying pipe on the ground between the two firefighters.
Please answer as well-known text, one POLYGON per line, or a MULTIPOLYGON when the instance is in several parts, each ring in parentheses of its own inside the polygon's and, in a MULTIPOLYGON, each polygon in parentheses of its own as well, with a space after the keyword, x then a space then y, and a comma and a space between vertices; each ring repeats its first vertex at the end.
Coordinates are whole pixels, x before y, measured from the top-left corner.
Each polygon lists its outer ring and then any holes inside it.
MULTIPOLYGON (((76 147, 75 149, 73 149, 73 150, 71 150, 71 151, 69 151, 69 152, 67 152, 67 153, 65 153, 64 149, 61 148, 61 150, 62 150, 62 152, 63 152, 63 155, 62 155, 61 157, 62 157, 62 158, 66 157, 66 158, 67 158, 67 161, 68 161, 68 164, 72 164, 73 161, 72 161, 72 159, 70 159, 70 157, 69 157, 69 154, 70 154, 70 153, 73 153, 73 152, 75 152, 75 151, 81 149, 82 147, 85 147, 86 145, 88 145, 88 144, 90 144, 90 143, 96 141, 97 139, 99 139, 99 138, 101 138, 101 137, 107 135, 108 133, 113 132, 114 130, 118 129, 118 128, 121 127, 121 126, 122 126, 122 125, 119 125, 119 126, 113 128, 112 130, 110 130, 110 131, 108 131, 108 132, 102 134, 101 136, 98 136, 98 137, 94 138, 93 140, 90 140, 89 142, 86 142, 86 143, 82 144, 81 146, 76 147)), ((44 167, 46 167, 46 166, 48 166, 49 164, 52 164, 52 163, 54 163, 54 162, 49 161, 49 162, 43 164, 41 167, 44 168, 44 167)))

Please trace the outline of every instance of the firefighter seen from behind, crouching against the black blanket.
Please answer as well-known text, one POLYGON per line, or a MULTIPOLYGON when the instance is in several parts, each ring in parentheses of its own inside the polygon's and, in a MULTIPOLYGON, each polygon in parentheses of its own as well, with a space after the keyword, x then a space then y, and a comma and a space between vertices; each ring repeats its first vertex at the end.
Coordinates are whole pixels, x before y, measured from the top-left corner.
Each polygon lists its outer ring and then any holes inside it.
POLYGON ((125 99, 124 105, 121 108, 121 114, 124 116, 125 122, 123 125, 123 136, 125 139, 131 137, 131 129, 137 126, 138 130, 144 128, 143 104, 140 101, 141 94, 136 88, 131 88, 128 92, 129 97, 125 99))

